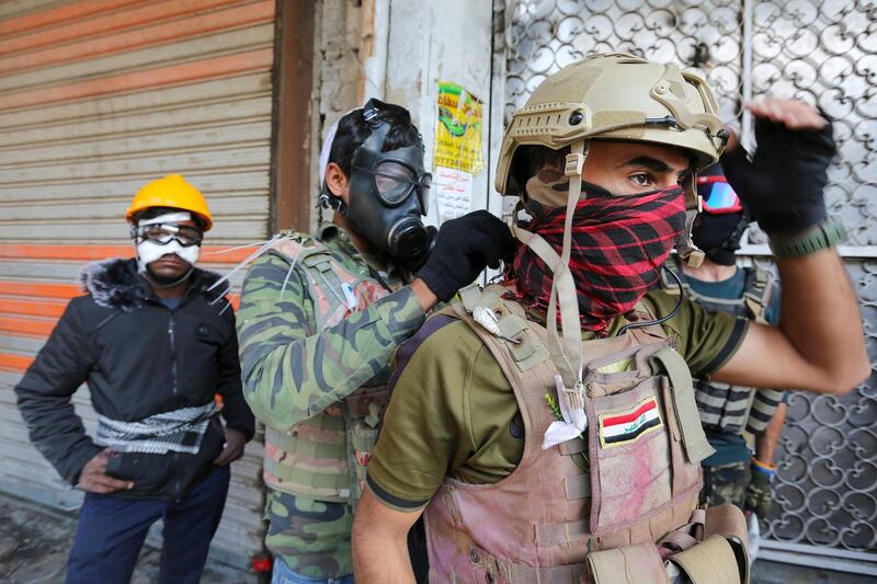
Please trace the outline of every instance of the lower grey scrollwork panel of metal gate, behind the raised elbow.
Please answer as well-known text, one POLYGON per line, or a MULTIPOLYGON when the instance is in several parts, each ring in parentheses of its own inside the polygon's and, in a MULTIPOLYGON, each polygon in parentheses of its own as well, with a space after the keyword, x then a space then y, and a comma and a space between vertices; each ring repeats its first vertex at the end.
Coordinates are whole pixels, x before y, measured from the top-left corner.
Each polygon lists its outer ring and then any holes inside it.
MULTIPOLYGON (((848 262, 874 348, 877 264, 848 262)), ((793 393, 777 447, 778 484, 767 536, 782 541, 875 551, 877 383, 835 398, 793 393), (778 503, 778 504, 777 504, 778 503)))

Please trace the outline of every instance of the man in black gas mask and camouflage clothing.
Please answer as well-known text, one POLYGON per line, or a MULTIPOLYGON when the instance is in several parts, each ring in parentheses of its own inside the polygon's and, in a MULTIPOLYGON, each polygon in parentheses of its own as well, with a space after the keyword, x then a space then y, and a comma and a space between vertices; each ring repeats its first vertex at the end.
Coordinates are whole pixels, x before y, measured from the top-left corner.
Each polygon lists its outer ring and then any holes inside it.
POLYGON ((274 582, 352 582, 351 525, 388 400, 390 358, 425 311, 513 249, 486 211, 422 222, 430 174, 409 113, 371 100, 320 153, 316 233, 281 233, 249 267, 244 396, 265 424, 274 582))

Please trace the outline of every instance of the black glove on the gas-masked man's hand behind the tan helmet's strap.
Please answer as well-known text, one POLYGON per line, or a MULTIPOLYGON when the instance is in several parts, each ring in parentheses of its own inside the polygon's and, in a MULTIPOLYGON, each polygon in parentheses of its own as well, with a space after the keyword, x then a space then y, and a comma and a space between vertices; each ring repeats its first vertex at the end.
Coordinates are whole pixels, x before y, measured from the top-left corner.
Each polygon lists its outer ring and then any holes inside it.
POLYGON ((486 266, 499 267, 514 256, 509 226, 486 210, 451 219, 438 229, 435 247, 418 277, 443 302, 471 282, 486 266))

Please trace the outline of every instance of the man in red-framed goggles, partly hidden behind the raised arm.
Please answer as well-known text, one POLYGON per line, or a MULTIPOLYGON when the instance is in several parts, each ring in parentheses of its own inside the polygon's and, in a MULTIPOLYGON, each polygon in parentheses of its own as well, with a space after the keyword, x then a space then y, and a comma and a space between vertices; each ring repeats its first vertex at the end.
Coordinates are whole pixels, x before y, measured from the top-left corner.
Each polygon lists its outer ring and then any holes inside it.
MULTIPOLYGON (((692 229, 692 241, 705 253, 690 266, 677 256, 668 262, 661 285, 711 311, 776 325, 779 286, 759 266, 739 267, 737 250, 752 221, 752 213, 728 184, 721 164, 697 175, 703 211, 692 229), (679 282, 676 282, 679 279, 679 282)), ((706 437, 716 451, 704 459, 701 503, 738 507, 765 517, 771 507, 774 451, 783 428, 788 393, 765 388, 731 386, 695 379, 695 400, 706 437), (750 454, 752 450, 752 454, 750 454)))

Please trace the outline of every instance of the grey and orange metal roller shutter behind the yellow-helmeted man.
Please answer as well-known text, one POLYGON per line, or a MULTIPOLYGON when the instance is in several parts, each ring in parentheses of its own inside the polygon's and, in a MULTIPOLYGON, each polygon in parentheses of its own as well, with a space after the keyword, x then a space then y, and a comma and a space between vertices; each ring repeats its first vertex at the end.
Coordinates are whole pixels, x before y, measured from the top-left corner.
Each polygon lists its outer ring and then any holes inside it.
MULTIPOLYGON (((0 2, 0 489, 79 505, 31 446, 12 387, 80 294, 82 265, 130 255, 123 215, 138 186, 175 172, 205 193, 208 268, 248 253, 221 250, 266 238, 275 8, 0 2)), ((87 388, 73 402, 93 430, 87 388)), ((262 549, 261 459, 254 442, 232 467, 214 540, 232 563, 262 549)))

